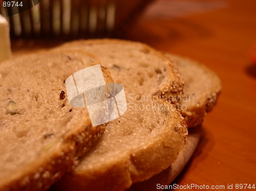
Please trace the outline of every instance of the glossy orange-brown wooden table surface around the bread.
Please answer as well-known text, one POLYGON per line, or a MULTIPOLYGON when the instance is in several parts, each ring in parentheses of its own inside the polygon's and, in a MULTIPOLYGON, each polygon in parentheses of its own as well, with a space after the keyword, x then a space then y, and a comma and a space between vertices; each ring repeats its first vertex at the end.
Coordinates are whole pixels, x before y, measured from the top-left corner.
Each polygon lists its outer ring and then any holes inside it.
MULTIPOLYGON (((256 45, 256 1, 159 0, 154 4, 127 38, 205 63, 223 85, 216 108, 203 124, 199 146, 175 183, 233 184, 233 190, 235 184, 256 184, 256 64, 248 57, 256 45)), ((14 41, 14 56, 59 42, 22 44, 14 41)))

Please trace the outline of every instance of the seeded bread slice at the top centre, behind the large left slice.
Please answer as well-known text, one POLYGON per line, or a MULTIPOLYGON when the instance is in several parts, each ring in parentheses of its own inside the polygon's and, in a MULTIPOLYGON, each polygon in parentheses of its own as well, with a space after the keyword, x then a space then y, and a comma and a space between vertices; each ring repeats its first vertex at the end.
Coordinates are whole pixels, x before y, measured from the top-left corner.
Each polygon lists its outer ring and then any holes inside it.
MULTIPOLYGON (((183 81, 172 60, 151 47, 115 39, 78 40, 61 46, 96 55, 109 68, 115 83, 140 96, 171 96, 170 103, 183 93, 183 81)), ((59 47, 58 47, 59 49, 59 47)))

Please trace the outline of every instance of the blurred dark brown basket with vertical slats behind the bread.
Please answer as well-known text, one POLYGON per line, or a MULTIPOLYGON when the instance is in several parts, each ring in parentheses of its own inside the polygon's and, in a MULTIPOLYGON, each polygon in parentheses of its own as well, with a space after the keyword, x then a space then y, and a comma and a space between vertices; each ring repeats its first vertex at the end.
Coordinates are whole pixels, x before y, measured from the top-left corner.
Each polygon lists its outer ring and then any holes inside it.
MULTIPOLYGON (((153 0, 41 0, 7 17, 11 37, 94 38, 121 36, 153 0)), ((5 15, 3 6, 1 14, 5 15)))

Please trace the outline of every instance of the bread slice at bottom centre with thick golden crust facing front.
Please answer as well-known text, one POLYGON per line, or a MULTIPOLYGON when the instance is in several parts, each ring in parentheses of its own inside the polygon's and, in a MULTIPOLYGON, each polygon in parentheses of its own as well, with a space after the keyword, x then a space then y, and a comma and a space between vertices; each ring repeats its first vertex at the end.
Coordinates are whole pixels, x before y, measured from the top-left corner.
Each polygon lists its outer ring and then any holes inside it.
POLYGON ((54 190, 124 190, 166 169, 185 145, 186 120, 169 102, 132 101, 54 190))

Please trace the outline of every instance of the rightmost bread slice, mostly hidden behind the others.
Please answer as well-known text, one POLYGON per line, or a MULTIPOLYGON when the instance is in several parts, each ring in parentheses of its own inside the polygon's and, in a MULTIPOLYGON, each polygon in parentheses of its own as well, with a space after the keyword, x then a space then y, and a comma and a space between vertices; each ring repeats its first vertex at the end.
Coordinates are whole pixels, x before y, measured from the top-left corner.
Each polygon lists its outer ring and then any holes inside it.
POLYGON ((217 103, 221 92, 219 77, 205 65, 181 56, 166 54, 177 64, 184 79, 184 95, 179 105, 182 116, 188 117, 187 126, 203 123, 206 113, 217 103))

